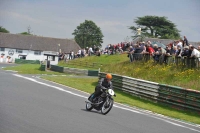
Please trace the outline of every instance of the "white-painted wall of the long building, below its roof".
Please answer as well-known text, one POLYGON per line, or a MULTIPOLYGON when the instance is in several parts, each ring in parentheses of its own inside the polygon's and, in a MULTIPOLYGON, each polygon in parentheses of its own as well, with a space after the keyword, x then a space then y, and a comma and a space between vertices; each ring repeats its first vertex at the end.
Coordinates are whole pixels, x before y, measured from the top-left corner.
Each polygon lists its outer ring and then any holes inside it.
MULTIPOLYGON (((44 52, 41 52, 41 55, 35 55, 34 51, 32 50, 22 50, 22 53, 17 53, 16 49, 12 48, 5 48, 5 51, 0 51, 0 56, 1 54, 5 54, 3 59, 0 59, 0 62, 6 62, 6 57, 10 56, 12 58, 12 62, 15 62, 15 59, 20 59, 20 54, 27 55, 26 60, 39 60, 39 61, 45 61, 47 59, 47 56, 44 55, 44 52), (13 55, 9 55, 9 52, 13 51, 13 55)), ((52 65, 57 65, 58 64, 58 57, 55 57, 55 61, 50 61, 52 65)))

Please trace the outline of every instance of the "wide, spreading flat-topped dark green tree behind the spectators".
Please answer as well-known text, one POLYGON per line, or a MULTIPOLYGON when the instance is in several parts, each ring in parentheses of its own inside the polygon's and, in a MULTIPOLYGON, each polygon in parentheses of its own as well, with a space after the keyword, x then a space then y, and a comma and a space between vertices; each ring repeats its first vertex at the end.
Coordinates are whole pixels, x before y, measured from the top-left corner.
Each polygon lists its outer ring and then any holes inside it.
POLYGON ((167 20, 167 17, 137 17, 134 22, 137 26, 130 26, 129 29, 131 29, 133 32, 136 32, 138 27, 140 27, 143 36, 162 39, 180 38, 180 31, 176 28, 174 23, 172 23, 170 20, 167 20))

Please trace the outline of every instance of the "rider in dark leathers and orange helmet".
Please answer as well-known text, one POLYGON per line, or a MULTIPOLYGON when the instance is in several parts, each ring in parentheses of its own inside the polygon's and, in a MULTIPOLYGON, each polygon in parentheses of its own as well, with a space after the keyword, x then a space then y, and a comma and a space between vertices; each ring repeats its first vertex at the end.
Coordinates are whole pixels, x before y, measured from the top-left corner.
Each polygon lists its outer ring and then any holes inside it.
POLYGON ((101 78, 98 85, 95 87, 95 92, 88 98, 88 100, 94 102, 95 98, 100 96, 103 91, 107 89, 113 89, 111 79, 112 75, 110 73, 106 74, 105 78, 101 78))

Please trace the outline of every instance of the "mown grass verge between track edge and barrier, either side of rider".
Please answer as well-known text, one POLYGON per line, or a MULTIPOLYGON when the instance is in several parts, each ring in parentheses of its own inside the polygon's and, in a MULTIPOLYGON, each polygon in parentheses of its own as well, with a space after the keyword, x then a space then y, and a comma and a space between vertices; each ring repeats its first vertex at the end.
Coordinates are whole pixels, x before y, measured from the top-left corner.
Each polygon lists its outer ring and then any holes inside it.
MULTIPOLYGON (((72 76, 44 76, 42 77, 47 80, 51 80, 66 86, 82 90, 84 92, 93 93, 94 88, 97 85, 98 78, 77 78, 72 76), (76 84, 74 84, 76 83, 76 84)), ((117 97, 114 98, 116 102, 126 104, 129 106, 134 106, 146 110, 151 110, 155 113, 159 113, 172 118, 181 119, 184 121, 200 124, 200 115, 194 112, 176 110, 168 106, 163 106, 161 104, 156 104, 147 100, 143 100, 134 97, 130 94, 124 93, 120 90, 115 90, 117 97)))

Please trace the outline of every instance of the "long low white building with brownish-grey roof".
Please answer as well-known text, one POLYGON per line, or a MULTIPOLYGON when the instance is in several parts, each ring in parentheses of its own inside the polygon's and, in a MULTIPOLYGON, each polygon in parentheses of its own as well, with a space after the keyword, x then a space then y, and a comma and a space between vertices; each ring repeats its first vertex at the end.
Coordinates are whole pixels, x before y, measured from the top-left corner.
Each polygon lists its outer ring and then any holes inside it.
POLYGON ((50 64, 56 65, 58 52, 78 49, 79 45, 69 39, 0 33, 0 62, 15 62, 15 59, 45 61, 48 57, 50 64))

